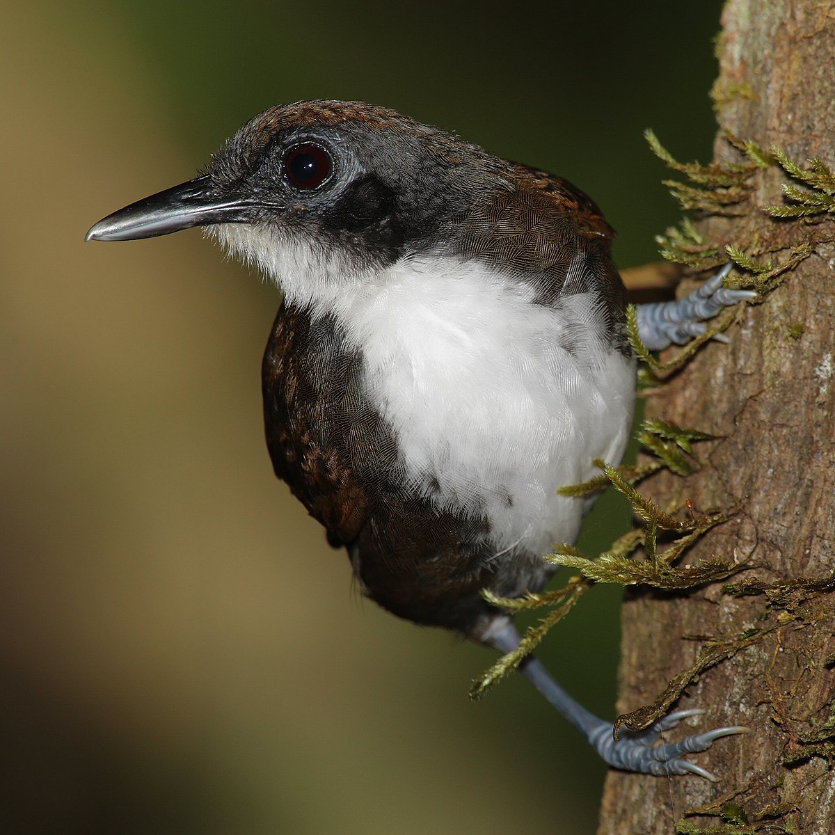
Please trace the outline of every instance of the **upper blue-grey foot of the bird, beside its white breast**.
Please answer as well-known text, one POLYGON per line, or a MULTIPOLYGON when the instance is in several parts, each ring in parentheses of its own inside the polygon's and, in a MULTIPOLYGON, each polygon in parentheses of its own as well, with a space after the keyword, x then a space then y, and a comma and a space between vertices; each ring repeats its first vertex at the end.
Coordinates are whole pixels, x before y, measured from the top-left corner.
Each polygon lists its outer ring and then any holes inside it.
MULTIPOLYGON (((737 301, 755 298, 755 291, 731 290, 722 286, 722 279, 731 271, 731 266, 726 264, 716 276, 683 299, 638 305, 635 310, 638 313, 638 335, 641 342, 650 351, 660 351, 673 342, 684 345, 693 337, 701 336, 706 328, 704 320, 716 316, 722 308, 735 305, 737 301)), ((714 338, 726 342, 721 334, 714 338)))

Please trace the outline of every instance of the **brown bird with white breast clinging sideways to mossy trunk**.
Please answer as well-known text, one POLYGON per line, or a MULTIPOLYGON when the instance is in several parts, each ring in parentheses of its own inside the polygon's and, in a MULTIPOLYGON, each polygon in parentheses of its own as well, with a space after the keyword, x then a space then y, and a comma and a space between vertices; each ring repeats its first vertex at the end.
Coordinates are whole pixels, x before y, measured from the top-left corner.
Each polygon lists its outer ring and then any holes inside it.
MULTIPOLYGON (((362 102, 304 101, 245 124, 195 179, 108 215, 87 240, 204 227, 281 291, 262 364, 266 443, 347 551, 365 595, 506 653, 485 590, 544 588, 594 499, 559 493, 618 463, 635 356, 612 227, 563 178, 362 102)), ((651 348, 749 298, 715 276, 639 308, 651 348)), ((686 759, 719 727, 657 744, 698 709, 621 731, 528 655, 519 666, 610 766, 716 779, 686 759)))

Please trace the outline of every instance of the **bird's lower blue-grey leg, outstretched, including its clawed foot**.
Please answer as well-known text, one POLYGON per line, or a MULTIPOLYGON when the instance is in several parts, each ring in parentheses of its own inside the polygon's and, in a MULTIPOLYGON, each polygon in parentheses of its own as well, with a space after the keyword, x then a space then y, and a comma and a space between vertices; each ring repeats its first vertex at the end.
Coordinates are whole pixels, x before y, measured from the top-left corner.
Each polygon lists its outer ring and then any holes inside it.
MULTIPOLYGON (((510 652, 519 646, 519 632, 509 623, 492 635, 489 643, 500 652, 510 652)), ((655 745, 663 731, 671 730, 688 716, 699 716, 705 712, 696 709, 668 714, 645 731, 621 730, 619 738, 615 740, 611 722, 599 719, 569 696, 533 655, 525 657, 519 665, 519 671, 577 728, 605 762, 627 772, 656 775, 691 773, 716 782, 716 777, 711 772, 682 757, 696 751, 706 751, 721 736, 748 731, 741 726, 721 727, 706 733, 685 736, 677 742, 655 745)))

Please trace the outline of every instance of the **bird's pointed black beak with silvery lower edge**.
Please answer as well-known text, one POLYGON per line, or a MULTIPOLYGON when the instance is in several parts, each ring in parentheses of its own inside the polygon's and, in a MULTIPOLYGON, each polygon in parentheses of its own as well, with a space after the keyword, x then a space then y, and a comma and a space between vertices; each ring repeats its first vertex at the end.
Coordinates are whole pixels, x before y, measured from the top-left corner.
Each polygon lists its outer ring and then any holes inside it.
POLYGON ((170 235, 192 226, 240 223, 251 219, 251 201, 220 195, 208 176, 197 177, 114 211, 84 240, 137 240, 170 235))

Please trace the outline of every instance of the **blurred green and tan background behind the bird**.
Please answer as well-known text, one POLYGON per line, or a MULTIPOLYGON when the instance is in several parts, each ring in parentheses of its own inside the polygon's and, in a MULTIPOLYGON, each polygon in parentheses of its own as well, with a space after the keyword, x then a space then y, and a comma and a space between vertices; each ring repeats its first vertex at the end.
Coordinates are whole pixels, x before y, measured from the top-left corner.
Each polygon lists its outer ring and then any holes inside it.
MULTIPOLYGON (((710 156, 720 5, 3 3, 0 832, 594 831, 574 731, 521 680, 471 704, 492 655, 363 602, 273 478, 275 291, 196 230, 83 235, 271 104, 365 99, 568 177, 655 260, 641 131, 710 156)), ((542 651, 604 716, 618 597, 542 651)))

